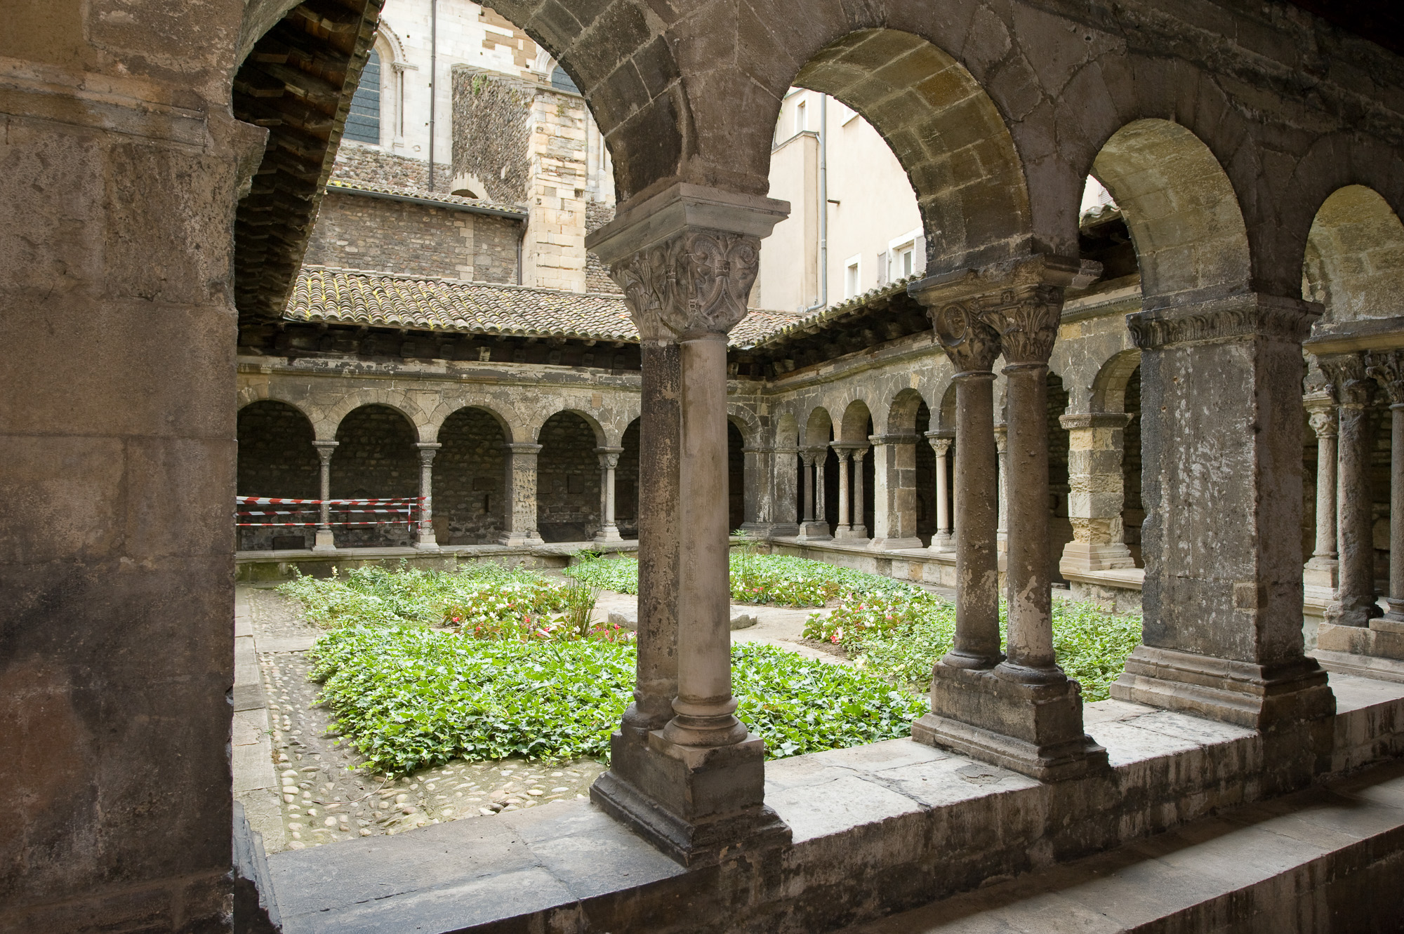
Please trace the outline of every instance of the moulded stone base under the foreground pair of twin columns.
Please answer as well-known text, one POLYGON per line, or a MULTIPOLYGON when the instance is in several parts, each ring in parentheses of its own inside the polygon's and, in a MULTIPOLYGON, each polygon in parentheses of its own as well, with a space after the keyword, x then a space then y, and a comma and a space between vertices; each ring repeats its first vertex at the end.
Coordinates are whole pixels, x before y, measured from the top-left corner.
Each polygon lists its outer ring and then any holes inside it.
POLYGON ((1039 781, 1067 781, 1108 770, 1106 750, 1082 732, 1082 690, 1063 679, 1019 684, 993 669, 938 663, 931 712, 911 738, 1039 781))

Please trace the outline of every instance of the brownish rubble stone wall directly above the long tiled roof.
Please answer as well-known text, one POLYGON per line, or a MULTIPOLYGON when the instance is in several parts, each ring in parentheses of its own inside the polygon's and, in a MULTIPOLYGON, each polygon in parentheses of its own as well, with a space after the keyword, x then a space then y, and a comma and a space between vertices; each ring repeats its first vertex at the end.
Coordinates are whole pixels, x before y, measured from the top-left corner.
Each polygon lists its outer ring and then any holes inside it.
POLYGON ((517 282, 521 222, 327 192, 303 262, 343 269, 517 282))

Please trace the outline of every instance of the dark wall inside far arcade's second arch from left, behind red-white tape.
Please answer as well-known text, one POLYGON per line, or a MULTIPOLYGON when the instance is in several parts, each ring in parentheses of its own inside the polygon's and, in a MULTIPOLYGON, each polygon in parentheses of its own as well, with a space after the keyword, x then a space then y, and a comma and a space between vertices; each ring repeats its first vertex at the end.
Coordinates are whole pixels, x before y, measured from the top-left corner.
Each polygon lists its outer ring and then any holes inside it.
MULTIPOLYGON (((420 495, 420 457, 414 429, 389 405, 364 405, 337 428, 331 454, 333 499, 385 499, 420 495)), ((365 522, 371 516, 355 515, 365 522)), ((388 516, 376 516, 388 519, 388 516)), ((336 516, 333 516, 336 519, 336 516)), ((333 526, 337 547, 404 547, 413 536, 404 523, 383 526, 333 526)))

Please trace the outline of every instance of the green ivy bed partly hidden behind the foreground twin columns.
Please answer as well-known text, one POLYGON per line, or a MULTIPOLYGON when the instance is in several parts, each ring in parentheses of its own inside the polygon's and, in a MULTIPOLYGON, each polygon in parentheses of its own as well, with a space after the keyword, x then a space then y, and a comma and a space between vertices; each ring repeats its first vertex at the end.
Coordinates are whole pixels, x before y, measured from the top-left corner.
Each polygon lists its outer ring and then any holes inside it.
MULTIPOLYGON (((1001 603, 1001 641, 1005 621, 1001 603)), ((804 635, 842 645, 865 670, 927 690, 932 665, 951 651, 955 627, 953 603, 910 588, 906 593, 845 597, 833 613, 810 616, 804 635)), ((1081 683, 1085 701, 1106 700, 1140 634, 1137 617, 1115 616, 1088 603, 1053 602, 1057 662, 1081 683)))

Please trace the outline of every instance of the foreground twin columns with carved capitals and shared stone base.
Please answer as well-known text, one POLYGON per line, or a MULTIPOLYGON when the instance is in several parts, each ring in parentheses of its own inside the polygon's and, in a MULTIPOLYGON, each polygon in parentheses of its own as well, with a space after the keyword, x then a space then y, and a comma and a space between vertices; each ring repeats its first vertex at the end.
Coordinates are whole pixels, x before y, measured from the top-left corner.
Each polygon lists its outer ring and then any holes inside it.
POLYGON ((1063 289, 1098 272, 1097 264, 1084 268, 1075 259, 1036 257, 931 276, 908 287, 931 310, 935 335, 960 370, 958 635, 932 672, 931 714, 913 725, 911 735, 1043 781, 1106 769, 1106 750, 1082 731, 1081 690, 1053 656, 1047 539, 1047 359, 1063 289), (1004 659, 995 621, 995 503, 990 489, 990 367, 997 352, 1004 355, 1008 379, 1009 627, 1004 659))

